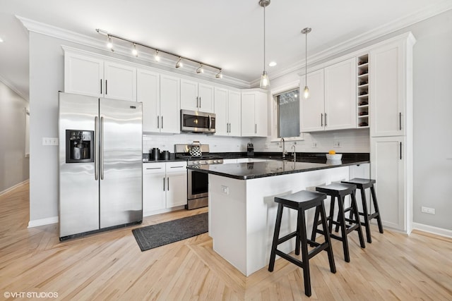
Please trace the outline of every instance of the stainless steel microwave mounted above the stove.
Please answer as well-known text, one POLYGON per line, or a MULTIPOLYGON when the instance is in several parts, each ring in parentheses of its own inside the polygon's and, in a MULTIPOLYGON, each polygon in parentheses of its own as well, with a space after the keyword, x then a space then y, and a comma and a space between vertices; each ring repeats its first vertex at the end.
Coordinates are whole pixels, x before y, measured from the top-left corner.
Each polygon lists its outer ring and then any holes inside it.
POLYGON ((181 110, 181 132, 215 133, 215 113, 181 110))

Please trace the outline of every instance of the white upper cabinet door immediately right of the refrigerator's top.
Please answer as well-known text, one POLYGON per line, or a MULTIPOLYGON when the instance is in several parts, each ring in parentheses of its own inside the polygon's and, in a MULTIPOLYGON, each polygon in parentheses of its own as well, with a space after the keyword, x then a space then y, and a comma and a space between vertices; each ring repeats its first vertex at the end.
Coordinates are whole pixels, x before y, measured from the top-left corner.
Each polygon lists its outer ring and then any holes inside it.
POLYGON ((143 102, 143 132, 160 132, 160 73, 137 70, 136 100, 143 102))

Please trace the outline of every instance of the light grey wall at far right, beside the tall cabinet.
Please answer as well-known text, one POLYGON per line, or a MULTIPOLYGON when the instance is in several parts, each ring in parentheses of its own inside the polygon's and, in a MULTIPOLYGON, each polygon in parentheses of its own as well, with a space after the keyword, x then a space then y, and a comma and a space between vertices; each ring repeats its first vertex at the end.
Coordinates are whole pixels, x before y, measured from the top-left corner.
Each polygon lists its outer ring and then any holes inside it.
POLYGON ((413 32, 413 216, 452 235, 452 11, 413 32), (422 206, 435 215, 421 213, 422 206))

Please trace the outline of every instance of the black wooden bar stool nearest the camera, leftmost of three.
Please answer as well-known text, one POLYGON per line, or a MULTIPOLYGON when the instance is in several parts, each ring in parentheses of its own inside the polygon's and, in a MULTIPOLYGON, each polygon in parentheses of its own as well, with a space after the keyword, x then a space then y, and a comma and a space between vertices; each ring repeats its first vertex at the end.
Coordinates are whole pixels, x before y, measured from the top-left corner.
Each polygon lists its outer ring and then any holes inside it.
POLYGON ((333 257, 333 248, 331 247, 331 240, 328 231, 328 224, 326 223, 325 205, 323 199, 326 199, 324 193, 302 190, 295 192, 292 195, 284 195, 282 197, 275 197, 275 202, 278 203, 278 213, 276 214, 275 232, 273 233, 273 244, 271 246, 270 263, 268 264, 268 271, 273 271, 275 267, 275 257, 278 254, 280 257, 296 264, 303 269, 304 278, 304 294, 308 297, 311 296, 311 278, 309 276, 309 259, 319 254, 322 250, 328 252, 328 261, 330 262, 331 273, 336 272, 336 267, 333 257), (283 217, 283 208, 287 207, 298 211, 297 216, 297 230, 295 232, 285 235, 283 238, 279 238, 281 219, 283 217), (306 231, 306 219, 304 211, 310 208, 316 207, 316 211, 320 212, 321 221, 323 226, 323 237, 325 242, 311 242, 307 238, 306 231), (295 238, 295 254, 299 255, 300 245, 302 249, 302 261, 292 257, 284 252, 278 250, 278 245, 291 238, 295 238), (308 252, 308 243, 315 245, 314 249, 308 252))

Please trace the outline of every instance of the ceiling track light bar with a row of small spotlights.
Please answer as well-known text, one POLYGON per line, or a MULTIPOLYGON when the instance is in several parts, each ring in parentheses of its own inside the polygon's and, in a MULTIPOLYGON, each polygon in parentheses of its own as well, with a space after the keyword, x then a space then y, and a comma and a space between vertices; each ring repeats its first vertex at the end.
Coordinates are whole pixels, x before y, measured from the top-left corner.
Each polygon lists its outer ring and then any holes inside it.
MULTIPOLYGON (((261 0, 261 1, 264 1, 264 2, 266 2, 266 3, 270 3, 270 0, 261 0)), ((267 4, 267 5, 268 5, 267 4)), ((264 19, 265 19, 265 16, 264 16, 264 19)), ((264 23, 265 23, 265 20, 264 20, 264 23)), ((184 66, 184 64, 182 63, 182 59, 184 59, 184 61, 189 61, 189 62, 193 62, 193 63, 197 63, 197 64, 199 64, 200 66, 198 67, 198 68, 196 68, 196 73, 204 73, 204 68, 207 66, 207 67, 209 67, 209 68, 213 68, 213 69, 216 69, 216 70, 218 70, 218 73, 215 73, 215 78, 222 78, 223 76, 222 76, 222 73, 221 73, 221 71, 222 71, 222 69, 220 68, 220 67, 217 67, 217 66, 213 66, 213 65, 210 65, 210 64, 208 64, 208 63, 203 63, 203 62, 201 62, 201 61, 196 61, 196 60, 194 60, 194 59, 189 59, 189 58, 187 58, 187 57, 185 57, 185 56, 180 56, 179 54, 174 54, 174 53, 172 53, 172 52, 169 52, 169 51, 164 51, 164 50, 162 50, 162 49, 156 49, 156 48, 154 48, 154 47, 150 47, 150 46, 148 46, 148 45, 145 45, 145 44, 141 44, 141 43, 138 43, 138 42, 135 42, 135 41, 131 41, 130 39, 126 39, 126 38, 124 38, 124 37, 119 37, 119 36, 117 36, 117 35, 112 35, 112 34, 110 34, 109 32, 107 32, 106 30, 101 30, 101 29, 96 29, 96 31, 100 34, 100 35, 105 35, 105 36, 107 36, 107 48, 108 49, 110 49, 110 50, 112 50, 112 51, 114 51, 114 49, 113 49, 113 44, 112 44, 112 38, 115 38, 115 39, 120 39, 120 40, 122 40, 122 41, 124 41, 124 42, 128 42, 128 43, 131 43, 132 45, 133 45, 133 48, 132 48, 132 54, 133 54, 133 56, 137 56, 138 57, 138 50, 136 49, 136 46, 137 45, 139 45, 139 46, 141 46, 141 47, 145 47, 145 48, 148 48, 148 49, 153 49, 154 51, 155 51, 155 54, 154 54, 154 59, 155 59, 155 61, 157 61, 157 62, 159 62, 160 61, 160 53, 163 53, 163 54, 167 54, 167 55, 169 55, 169 56, 173 56, 173 57, 175 57, 175 58, 177 58, 177 63, 176 63, 176 68, 182 68, 183 66, 184 66)), ((265 34, 265 32, 264 32, 264 34, 265 34)), ((265 51, 265 49, 264 49, 264 51, 265 51)), ((143 56, 142 56, 143 57, 143 56)), ((265 61, 265 60, 264 60, 265 61)))

